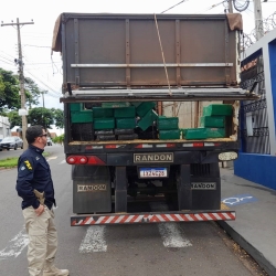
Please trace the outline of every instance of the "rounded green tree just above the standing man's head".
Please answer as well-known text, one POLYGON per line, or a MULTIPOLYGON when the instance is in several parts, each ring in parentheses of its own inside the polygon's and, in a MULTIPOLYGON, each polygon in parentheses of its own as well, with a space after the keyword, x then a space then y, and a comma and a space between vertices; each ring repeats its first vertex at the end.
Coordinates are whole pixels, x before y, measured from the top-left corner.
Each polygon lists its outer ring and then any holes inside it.
POLYGON ((35 107, 29 110, 28 123, 31 125, 41 125, 45 129, 54 124, 54 114, 45 107, 35 107))

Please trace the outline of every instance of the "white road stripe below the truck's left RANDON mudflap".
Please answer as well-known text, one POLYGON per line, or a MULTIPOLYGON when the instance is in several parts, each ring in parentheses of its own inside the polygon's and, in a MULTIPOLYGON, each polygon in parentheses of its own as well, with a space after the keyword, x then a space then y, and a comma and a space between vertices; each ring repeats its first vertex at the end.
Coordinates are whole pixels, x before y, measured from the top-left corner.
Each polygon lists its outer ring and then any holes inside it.
POLYGON ((78 251, 79 253, 106 252, 105 225, 89 226, 78 251))

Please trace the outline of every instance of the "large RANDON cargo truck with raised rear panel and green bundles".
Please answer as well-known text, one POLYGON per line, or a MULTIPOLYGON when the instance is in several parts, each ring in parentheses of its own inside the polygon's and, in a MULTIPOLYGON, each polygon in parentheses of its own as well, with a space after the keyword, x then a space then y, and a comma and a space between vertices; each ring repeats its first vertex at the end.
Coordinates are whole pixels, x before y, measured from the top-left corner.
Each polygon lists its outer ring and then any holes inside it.
POLYGON ((235 220, 220 162, 257 98, 238 87, 241 32, 238 13, 57 18, 72 226, 235 220))

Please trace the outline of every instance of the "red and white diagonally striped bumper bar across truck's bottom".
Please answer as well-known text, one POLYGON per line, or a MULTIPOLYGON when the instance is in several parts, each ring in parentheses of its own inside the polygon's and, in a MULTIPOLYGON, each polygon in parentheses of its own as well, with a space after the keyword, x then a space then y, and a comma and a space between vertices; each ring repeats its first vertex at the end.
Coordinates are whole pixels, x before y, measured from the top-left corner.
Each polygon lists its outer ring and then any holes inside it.
POLYGON ((158 222, 200 222, 200 221, 233 221, 236 214, 233 211, 189 213, 189 214, 123 214, 71 217, 72 226, 99 224, 131 224, 158 222))

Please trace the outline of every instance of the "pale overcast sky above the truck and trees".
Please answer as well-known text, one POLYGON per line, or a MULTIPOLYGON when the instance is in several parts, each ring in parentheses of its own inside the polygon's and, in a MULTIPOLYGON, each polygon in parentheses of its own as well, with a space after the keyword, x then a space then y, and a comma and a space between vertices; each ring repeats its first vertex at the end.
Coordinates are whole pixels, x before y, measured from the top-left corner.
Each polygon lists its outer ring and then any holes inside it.
MULTIPOLYGON (((263 0, 262 0, 263 1, 263 0)), ((51 60, 53 26, 62 12, 108 12, 108 13, 161 13, 181 0, 1 0, 0 21, 34 24, 21 28, 24 75, 34 79, 42 89, 49 91, 45 107, 62 108, 59 103, 62 85, 62 63, 57 53, 51 60)), ((166 13, 224 13, 222 0, 187 0, 166 13)), ((238 0, 243 3, 244 0, 238 0)), ((263 18, 276 11, 276 0, 262 3, 263 18)), ((244 32, 254 29, 253 1, 245 12, 244 32)), ((17 30, 13 26, 0 28, 0 67, 17 72, 13 60, 18 57, 17 30)), ((42 106, 42 104, 41 104, 42 106)))

